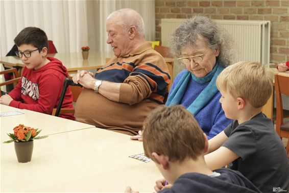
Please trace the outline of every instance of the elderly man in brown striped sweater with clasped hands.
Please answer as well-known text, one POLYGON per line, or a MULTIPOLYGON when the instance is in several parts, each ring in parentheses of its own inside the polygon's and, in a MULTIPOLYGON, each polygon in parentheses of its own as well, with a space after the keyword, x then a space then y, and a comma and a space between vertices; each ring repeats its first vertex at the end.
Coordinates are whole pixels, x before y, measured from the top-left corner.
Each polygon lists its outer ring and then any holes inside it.
POLYGON ((85 88, 76 103, 77 121, 135 135, 143 120, 163 104, 170 83, 164 58, 146 43, 144 23, 132 9, 107 17, 107 44, 115 57, 94 75, 77 73, 73 80, 85 88))

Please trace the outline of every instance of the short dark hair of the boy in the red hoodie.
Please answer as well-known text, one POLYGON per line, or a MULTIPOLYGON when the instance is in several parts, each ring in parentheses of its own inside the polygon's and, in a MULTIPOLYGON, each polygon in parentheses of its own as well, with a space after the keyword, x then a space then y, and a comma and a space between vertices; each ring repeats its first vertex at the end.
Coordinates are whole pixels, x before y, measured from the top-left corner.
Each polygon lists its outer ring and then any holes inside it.
POLYGON ((43 47, 48 48, 48 40, 45 32, 40 28, 27 27, 24 28, 14 39, 16 46, 23 44, 31 44, 35 48, 42 49, 43 47))

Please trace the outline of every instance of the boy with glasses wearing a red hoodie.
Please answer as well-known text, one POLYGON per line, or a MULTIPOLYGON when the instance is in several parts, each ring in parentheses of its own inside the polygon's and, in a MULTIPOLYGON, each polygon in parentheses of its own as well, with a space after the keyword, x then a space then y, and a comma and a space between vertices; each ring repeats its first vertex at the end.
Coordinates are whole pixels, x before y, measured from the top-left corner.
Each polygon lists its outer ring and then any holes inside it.
MULTIPOLYGON (((25 64, 20 81, 15 89, 0 98, 0 103, 18 109, 28 109, 52 114, 68 76, 61 61, 46 57, 48 41, 45 32, 39 28, 27 27, 14 39, 18 51, 16 56, 25 64)), ((73 97, 69 88, 66 91, 62 108, 73 109, 73 97)), ((60 117, 75 120, 73 114, 60 117)))

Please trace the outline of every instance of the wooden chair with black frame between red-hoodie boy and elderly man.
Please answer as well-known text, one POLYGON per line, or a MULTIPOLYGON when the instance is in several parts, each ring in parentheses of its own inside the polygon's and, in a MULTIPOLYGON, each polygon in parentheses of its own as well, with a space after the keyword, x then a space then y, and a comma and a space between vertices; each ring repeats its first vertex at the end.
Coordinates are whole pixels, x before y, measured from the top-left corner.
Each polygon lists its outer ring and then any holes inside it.
POLYGON ((67 88, 69 87, 70 91, 73 93, 73 102, 76 102, 81 91, 83 90, 83 88, 81 87, 80 84, 75 84, 73 83, 73 81, 71 80, 72 77, 68 77, 64 80, 63 82, 63 89, 62 89, 62 93, 59 99, 59 103, 57 106, 57 109, 53 109, 52 111, 52 115, 53 116, 59 116, 59 114, 68 114, 68 113, 75 113, 75 109, 65 109, 65 108, 61 108, 65 93, 67 88), (68 80, 67 80, 68 79, 68 80))

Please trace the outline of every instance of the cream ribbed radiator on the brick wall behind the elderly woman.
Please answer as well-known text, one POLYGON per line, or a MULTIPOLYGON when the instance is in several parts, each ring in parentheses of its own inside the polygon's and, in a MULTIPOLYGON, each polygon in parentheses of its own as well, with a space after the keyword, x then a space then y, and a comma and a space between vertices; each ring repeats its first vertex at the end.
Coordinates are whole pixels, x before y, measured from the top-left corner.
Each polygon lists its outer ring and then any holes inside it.
MULTIPOLYGON (((186 19, 161 19, 162 46, 170 46, 171 35, 186 19)), ((239 52, 234 60, 270 63, 270 21, 262 20, 219 20, 218 26, 225 28, 235 39, 239 52)), ((185 67, 176 61, 173 79, 185 67)))

